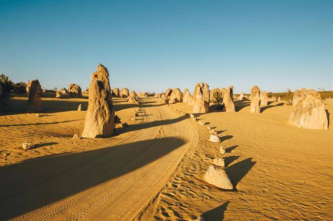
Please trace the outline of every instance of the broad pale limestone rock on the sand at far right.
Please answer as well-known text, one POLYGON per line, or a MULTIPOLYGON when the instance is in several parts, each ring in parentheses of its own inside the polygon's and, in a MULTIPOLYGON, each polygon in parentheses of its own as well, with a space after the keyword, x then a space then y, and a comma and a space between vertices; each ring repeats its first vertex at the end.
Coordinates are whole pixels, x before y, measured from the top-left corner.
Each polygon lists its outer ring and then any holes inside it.
MULTIPOLYGON (((328 120, 324 101, 314 89, 300 91, 301 100, 289 116, 289 124, 304 129, 328 130, 328 120)), ((297 97, 297 98, 298 98, 297 97)))

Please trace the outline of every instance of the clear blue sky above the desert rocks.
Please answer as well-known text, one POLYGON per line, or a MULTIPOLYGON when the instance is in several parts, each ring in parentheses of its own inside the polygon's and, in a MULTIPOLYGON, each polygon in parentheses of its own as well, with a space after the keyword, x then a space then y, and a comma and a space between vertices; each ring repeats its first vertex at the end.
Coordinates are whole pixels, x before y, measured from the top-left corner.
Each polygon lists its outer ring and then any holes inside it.
POLYGON ((0 0, 0 73, 84 90, 333 90, 333 1, 0 0))

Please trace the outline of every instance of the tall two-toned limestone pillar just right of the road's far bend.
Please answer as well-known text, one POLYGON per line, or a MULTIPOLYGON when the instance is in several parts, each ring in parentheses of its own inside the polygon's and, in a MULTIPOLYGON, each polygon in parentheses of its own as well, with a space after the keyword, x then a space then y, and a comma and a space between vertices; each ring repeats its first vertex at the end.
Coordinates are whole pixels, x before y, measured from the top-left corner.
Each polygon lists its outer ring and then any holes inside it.
POLYGON ((210 89, 206 83, 198 83, 193 94, 193 113, 209 113, 210 89))

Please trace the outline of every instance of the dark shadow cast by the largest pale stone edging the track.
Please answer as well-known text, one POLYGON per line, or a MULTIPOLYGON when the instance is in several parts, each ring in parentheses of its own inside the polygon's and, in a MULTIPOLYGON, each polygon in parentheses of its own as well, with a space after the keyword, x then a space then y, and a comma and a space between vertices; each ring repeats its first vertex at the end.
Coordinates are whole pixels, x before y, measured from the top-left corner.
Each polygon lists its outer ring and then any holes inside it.
POLYGON ((252 159, 253 158, 250 157, 225 168, 225 172, 231 179, 234 188, 236 188, 239 181, 241 181, 248 171, 256 164, 256 161, 252 161, 252 159))

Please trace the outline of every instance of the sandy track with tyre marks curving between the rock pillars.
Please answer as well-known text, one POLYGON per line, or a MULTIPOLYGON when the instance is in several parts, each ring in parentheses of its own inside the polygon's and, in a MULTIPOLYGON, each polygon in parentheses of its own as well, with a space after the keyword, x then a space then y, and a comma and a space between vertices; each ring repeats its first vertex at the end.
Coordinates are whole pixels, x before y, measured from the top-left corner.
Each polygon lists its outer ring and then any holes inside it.
MULTIPOLYGON (((106 139, 103 148, 20 165, 21 173, 1 182, 0 219, 132 220, 198 141, 184 114, 155 99, 144 99, 140 110, 142 122, 128 128, 129 135, 117 144, 106 139), (38 173, 19 179, 32 170, 38 173)), ((0 174, 4 178, 18 167, 5 166, 0 174)))

